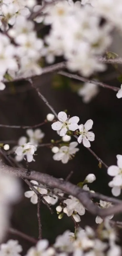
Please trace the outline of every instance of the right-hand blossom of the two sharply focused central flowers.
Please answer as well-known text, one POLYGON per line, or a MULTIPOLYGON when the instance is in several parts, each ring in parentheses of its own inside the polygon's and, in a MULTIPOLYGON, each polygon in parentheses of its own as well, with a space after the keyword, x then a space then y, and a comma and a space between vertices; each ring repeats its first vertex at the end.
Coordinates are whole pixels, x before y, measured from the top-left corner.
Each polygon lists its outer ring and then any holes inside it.
POLYGON ((83 145, 88 148, 91 146, 89 141, 94 141, 94 136, 95 136, 93 132, 89 132, 92 126, 93 126, 93 121, 91 119, 87 120, 87 122, 84 125, 83 124, 79 125, 80 136, 78 137, 77 141, 79 143, 83 141, 83 145))

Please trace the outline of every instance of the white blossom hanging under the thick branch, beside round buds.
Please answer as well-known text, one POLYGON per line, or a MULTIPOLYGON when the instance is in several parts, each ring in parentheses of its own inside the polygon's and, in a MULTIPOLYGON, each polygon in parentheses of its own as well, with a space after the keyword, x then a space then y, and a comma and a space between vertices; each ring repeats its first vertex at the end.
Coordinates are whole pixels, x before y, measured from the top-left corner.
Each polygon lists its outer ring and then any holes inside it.
POLYGON ((76 197, 70 195, 68 199, 64 200, 64 204, 66 204, 66 207, 64 207, 63 211, 68 216, 71 216, 73 212, 77 212, 79 215, 85 214, 84 206, 76 197))

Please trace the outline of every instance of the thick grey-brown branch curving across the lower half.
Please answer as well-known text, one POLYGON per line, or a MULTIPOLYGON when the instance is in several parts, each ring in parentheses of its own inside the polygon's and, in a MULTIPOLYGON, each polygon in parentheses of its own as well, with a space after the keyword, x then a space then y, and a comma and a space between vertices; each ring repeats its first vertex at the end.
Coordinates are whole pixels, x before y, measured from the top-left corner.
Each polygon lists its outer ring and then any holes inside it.
MULTIPOLYGON (((115 206, 109 207, 106 209, 101 209, 91 201, 91 197, 95 197, 95 193, 87 192, 84 189, 81 189, 80 187, 70 182, 67 182, 58 178, 54 178, 48 174, 37 172, 37 171, 30 171, 30 175, 28 176, 28 171, 26 169, 10 167, 5 163, 3 163, 2 160, 0 160, 0 168, 5 173, 9 173, 24 179, 35 180, 40 183, 46 184, 51 188, 61 189, 62 191, 64 191, 64 193, 71 194, 72 196, 80 200, 80 202, 84 205, 84 207, 89 212, 91 212, 94 215, 99 215, 102 218, 111 214, 122 212, 121 200, 118 201, 118 199, 117 200, 113 199, 113 204, 115 204, 115 200, 117 202, 115 206)), ((98 198, 99 195, 97 194, 96 197, 98 198)), ((109 201, 109 197, 107 197, 107 199, 109 201)), ((110 202, 111 201, 112 199, 110 198, 110 202)))

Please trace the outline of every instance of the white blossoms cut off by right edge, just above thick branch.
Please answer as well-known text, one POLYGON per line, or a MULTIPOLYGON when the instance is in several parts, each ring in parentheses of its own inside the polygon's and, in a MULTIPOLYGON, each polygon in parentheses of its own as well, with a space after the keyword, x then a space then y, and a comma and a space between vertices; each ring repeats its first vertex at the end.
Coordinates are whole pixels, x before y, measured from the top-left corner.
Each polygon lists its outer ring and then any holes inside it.
POLYGON ((107 173, 114 177, 113 180, 108 183, 108 186, 112 188, 112 194, 118 197, 122 188, 122 155, 117 155, 117 166, 111 165, 107 169, 107 173))

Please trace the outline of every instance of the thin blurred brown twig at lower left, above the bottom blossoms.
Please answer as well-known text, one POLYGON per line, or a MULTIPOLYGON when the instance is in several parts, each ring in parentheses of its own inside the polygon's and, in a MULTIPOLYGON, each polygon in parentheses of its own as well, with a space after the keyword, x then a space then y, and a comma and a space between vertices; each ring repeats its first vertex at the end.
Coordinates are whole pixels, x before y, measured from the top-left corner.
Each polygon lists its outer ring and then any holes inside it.
POLYGON ((8 232, 13 234, 13 235, 20 236, 20 237, 22 237, 23 239, 27 240, 30 243, 37 243, 38 242, 38 240, 36 240, 35 238, 33 238, 31 236, 28 236, 25 233, 23 233, 21 231, 18 231, 17 229, 9 228, 8 232))

